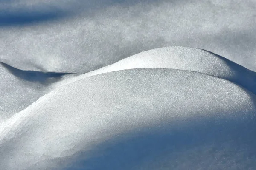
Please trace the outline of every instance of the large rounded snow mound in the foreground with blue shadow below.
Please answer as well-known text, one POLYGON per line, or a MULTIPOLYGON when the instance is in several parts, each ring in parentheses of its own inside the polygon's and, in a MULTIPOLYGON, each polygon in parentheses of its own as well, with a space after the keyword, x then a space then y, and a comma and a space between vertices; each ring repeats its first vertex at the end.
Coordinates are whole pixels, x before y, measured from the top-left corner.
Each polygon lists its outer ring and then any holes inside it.
POLYGON ((0 125, 0 169, 253 169, 255 104, 241 86, 194 71, 87 77, 0 125))

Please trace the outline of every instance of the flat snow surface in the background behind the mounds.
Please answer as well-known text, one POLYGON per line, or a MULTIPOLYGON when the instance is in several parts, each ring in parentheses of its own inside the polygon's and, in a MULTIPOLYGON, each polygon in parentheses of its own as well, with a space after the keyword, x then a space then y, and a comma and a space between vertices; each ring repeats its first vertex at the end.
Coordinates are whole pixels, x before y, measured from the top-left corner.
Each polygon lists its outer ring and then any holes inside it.
POLYGON ((255 0, 0 0, 0 61, 86 73, 181 45, 256 71, 255 8, 255 0))

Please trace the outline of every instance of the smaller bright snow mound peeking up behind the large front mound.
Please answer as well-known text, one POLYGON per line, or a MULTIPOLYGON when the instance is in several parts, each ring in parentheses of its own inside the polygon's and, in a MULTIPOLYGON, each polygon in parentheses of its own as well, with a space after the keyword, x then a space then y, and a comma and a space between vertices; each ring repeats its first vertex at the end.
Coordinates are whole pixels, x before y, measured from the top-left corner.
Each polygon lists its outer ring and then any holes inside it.
POLYGON ((197 71, 227 79, 256 94, 255 72, 212 52, 180 46, 145 51, 96 71, 68 79, 64 84, 96 74, 132 68, 172 68, 197 71))

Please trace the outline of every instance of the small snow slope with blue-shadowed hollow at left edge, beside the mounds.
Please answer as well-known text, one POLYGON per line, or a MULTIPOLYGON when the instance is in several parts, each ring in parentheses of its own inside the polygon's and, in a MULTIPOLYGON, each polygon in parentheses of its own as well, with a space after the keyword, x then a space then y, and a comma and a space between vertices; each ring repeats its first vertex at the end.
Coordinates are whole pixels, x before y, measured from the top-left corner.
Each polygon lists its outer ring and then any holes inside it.
POLYGON ((23 71, 0 63, 0 123, 52 91, 61 80, 76 76, 23 71))

